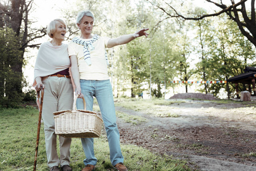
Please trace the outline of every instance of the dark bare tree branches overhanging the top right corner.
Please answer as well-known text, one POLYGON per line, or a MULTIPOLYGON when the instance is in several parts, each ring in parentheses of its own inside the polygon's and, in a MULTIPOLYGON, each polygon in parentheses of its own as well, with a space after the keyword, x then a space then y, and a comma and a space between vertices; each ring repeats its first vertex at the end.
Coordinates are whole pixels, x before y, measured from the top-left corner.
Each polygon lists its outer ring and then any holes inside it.
MULTIPOLYGON (((160 3, 153 3, 151 0, 146 1, 164 11, 164 13, 171 18, 182 18, 185 20, 197 21, 206 17, 215 17, 225 13, 229 19, 237 23, 237 26, 242 34, 256 47, 255 0, 251 0, 250 9, 246 9, 245 5, 245 2, 248 0, 241 0, 237 3, 235 3, 234 0, 230 0, 230 4, 228 4, 227 1, 224 3, 224 1, 216 2, 205 0, 206 2, 212 3, 213 5, 219 7, 220 11, 211 14, 203 14, 197 17, 194 17, 193 14, 181 14, 176 7, 172 6, 172 3, 164 2, 165 6, 162 6, 160 3)), ((184 1, 182 1, 182 3, 184 3, 184 1)))

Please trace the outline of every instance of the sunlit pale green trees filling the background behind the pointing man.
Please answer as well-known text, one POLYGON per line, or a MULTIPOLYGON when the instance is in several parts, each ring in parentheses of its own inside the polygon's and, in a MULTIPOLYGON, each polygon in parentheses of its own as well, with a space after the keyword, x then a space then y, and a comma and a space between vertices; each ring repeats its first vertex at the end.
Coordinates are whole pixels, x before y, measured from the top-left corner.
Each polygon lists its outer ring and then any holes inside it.
MULTIPOLYGON (((156 3, 166 6, 162 1, 156 3)), ((101 36, 116 38, 140 28, 149 28, 147 39, 137 38, 123 46, 107 49, 111 62, 109 76, 117 97, 127 95, 127 91, 135 97, 137 93, 149 92, 149 87, 153 87, 153 97, 162 97, 163 89, 168 91, 180 86, 168 84, 174 79, 226 80, 241 74, 245 66, 256 66, 252 44, 226 15, 184 22, 166 18, 161 10, 142 0, 133 3, 77 1, 72 5, 75 5, 74 10, 63 10, 68 11, 65 18, 70 36, 80 34, 75 26, 75 17, 82 9, 89 9, 95 14, 93 32, 101 36)), ((208 13, 205 9, 193 7, 190 1, 182 3, 182 7, 180 2, 173 1, 172 6, 193 17, 208 13)), ((185 84, 186 91, 189 86, 185 84)), ((205 84, 197 89, 213 93, 216 97, 221 89, 229 92, 230 97, 235 95, 234 85, 205 84)), ((242 90, 243 86, 239 89, 242 90)))

